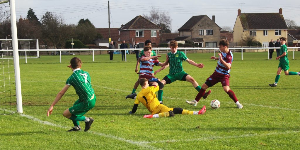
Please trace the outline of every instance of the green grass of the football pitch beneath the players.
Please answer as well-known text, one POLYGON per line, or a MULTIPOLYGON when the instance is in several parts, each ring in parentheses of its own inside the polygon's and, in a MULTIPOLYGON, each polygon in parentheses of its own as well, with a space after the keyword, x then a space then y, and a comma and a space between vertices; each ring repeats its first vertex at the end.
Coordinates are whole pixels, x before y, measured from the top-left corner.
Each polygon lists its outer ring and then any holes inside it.
MULTIPOLYGON (((184 70, 200 84, 211 75, 217 61, 213 54, 187 54, 203 69, 184 62, 184 70)), ((273 54, 275 58, 276 54, 273 54)), ((46 117, 56 94, 64 87, 72 73, 68 62, 73 56, 42 56, 40 59, 20 59, 23 114, 0 116, 0 149, 298 149, 300 96, 298 75, 281 74, 277 87, 273 83, 278 61, 267 60, 267 53, 234 53, 230 72, 230 87, 244 105, 237 109, 232 99, 218 83, 211 87, 207 99, 197 107, 185 103, 198 93, 189 82, 176 81, 164 87, 164 104, 199 110, 208 106, 204 115, 176 115, 173 118, 144 119, 149 114, 142 104, 134 115, 129 115, 133 99, 125 99, 137 80, 135 54, 122 62, 121 55, 76 56, 82 59, 82 69, 91 75, 97 96, 96 106, 86 116, 93 117, 91 132, 67 133, 72 122, 62 112, 77 99, 70 88, 46 117), (211 100, 220 100, 219 109, 211 109, 211 100), (34 119, 30 118, 34 117, 34 119)), ((165 60, 165 54, 160 59, 165 60)), ((300 71, 300 52, 295 60, 289 53, 289 71, 300 71)), ((157 66, 154 68, 158 69, 157 66)), ((168 69, 157 77, 162 79, 168 69)), ((141 88, 137 89, 137 92, 141 88)), ((84 128, 84 123, 81 122, 84 128)))

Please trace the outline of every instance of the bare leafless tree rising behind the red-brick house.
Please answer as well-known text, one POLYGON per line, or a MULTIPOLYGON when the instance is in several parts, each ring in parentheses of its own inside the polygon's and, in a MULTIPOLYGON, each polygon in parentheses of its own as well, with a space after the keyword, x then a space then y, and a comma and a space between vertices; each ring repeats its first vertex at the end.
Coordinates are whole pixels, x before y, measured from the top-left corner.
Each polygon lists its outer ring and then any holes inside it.
POLYGON ((156 25, 160 26, 162 28, 162 33, 171 33, 172 19, 169 16, 168 11, 159 11, 159 9, 155 9, 153 6, 151 6, 150 14, 143 14, 143 16, 156 25))

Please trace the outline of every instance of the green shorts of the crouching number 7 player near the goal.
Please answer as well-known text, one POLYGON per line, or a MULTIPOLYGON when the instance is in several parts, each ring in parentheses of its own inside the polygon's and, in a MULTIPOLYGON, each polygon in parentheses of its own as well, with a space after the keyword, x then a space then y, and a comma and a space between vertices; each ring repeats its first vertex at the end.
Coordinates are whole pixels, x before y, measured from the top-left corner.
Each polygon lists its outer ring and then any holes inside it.
POLYGON ((83 102, 79 102, 79 99, 77 99, 73 106, 69 108, 69 111, 71 114, 81 117, 90 109, 92 109, 95 106, 95 103, 96 96, 94 99, 83 102))

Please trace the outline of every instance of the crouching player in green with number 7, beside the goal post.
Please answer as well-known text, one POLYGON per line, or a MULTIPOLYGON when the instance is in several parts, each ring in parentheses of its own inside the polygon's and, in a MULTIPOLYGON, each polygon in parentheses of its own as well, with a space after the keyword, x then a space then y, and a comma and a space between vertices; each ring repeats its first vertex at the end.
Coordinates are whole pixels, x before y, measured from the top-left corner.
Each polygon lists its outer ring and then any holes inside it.
POLYGON ((93 118, 83 116, 86 112, 92 109, 96 103, 96 96, 94 89, 91 86, 91 77, 88 72, 81 70, 82 62, 79 58, 74 57, 70 60, 70 67, 73 71, 72 75, 67 79, 66 85, 60 92, 58 92, 55 100, 51 104, 47 116, 51 115, 53 107, 66 93, 69 87, 72 85, 79 96, 79 99, 73 104, 72 107, 66 109, 63 113, 64 117, 73 121, 74 127, 68 131, 80 131, 79 121, 85 122, 84 131, 90 129, 93 123, 93 118))

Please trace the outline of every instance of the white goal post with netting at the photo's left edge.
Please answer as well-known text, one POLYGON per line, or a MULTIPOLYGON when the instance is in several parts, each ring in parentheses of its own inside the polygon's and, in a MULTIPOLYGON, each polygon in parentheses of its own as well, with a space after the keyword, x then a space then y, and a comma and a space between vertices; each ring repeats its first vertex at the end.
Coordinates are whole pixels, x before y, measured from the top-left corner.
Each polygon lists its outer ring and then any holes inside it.
MULTIPOLYGON (((1 57, 7 57, 6 60, 0 59, 0 61, 2 60, 2 68, 0 68, 0 114, 4 115, 10 115, 16 111, 23 113, 15 0, 0 0, 0 5, 7 7, 7 2, 9 2, 10 16, 4 14, 4 21, 10 20, 11 42, 7 42, 6 44, 8 46, 8 43, 11 43, 13 58, 9 58, 8 47, 7 49, 3 49, 5 47, 2 47, 1 44, 1 57), (3 56, 4 52, 7 55, 3 56), (15 105, 16 111, 13 110, 15 105)), ((6 37, 9 36, 6 35, 6 37)))

